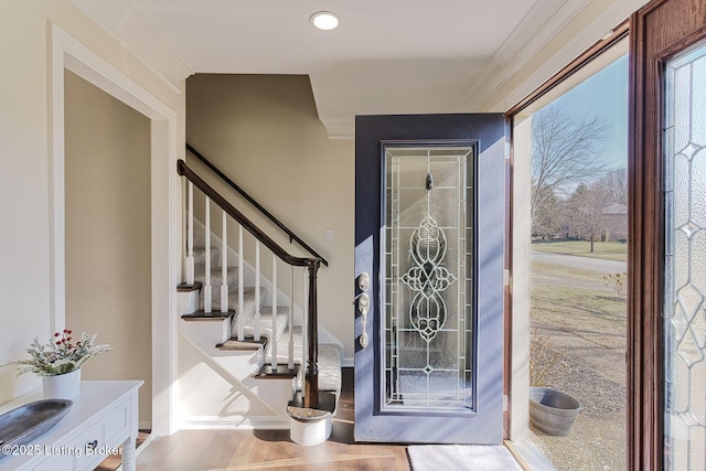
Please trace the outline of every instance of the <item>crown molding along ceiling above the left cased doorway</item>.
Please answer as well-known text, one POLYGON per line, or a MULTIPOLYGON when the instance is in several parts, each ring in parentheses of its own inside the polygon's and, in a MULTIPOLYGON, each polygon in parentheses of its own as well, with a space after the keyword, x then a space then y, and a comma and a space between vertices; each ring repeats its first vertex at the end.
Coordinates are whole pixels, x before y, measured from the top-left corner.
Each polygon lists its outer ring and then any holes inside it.
POLYGON ((127 0, 72 0, 86 17, 132 53, 174 93, 195 71, 127 0))

